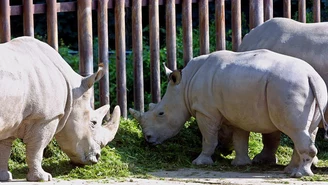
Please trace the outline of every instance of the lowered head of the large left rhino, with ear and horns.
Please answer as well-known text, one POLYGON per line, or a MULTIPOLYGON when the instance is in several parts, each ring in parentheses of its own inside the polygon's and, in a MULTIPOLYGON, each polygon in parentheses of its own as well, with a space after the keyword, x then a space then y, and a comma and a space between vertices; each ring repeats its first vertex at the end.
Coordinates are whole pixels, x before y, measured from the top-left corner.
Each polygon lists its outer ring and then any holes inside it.
POLYGON ((110 119, 109 105, 96 110, 91 107, 92 86, 104 72, 102 67, 91 76, 81 78, 80 86, 73 87, 73 103, 63 129, 56 134, 61 149, 75 164, 98 162, 100 149, 107 145, 118 130, 120 108, 116 106, 110 119))

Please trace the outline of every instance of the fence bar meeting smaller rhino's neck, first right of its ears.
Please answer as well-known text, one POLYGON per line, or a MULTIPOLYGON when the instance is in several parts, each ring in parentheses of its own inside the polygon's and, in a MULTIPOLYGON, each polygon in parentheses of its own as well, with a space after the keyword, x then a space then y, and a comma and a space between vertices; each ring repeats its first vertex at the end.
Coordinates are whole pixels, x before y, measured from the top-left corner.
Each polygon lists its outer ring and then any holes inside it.
POLYGON ((182 1, 183 61, 185 66, 193 58, 191 5, 192 0, 182 1))

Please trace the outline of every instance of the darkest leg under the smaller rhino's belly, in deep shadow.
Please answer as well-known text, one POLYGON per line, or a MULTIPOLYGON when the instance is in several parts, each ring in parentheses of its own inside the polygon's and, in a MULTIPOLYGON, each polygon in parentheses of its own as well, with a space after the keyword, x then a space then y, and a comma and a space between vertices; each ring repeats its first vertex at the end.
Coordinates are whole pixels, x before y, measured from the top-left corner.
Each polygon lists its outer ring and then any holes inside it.
POLYGON ((276 151, 280 144, 281 132, 273 132, 270 134, 262 134, 263 149, 261 153, 253 158, 253 163, 260 164, 276 164, 276 151))

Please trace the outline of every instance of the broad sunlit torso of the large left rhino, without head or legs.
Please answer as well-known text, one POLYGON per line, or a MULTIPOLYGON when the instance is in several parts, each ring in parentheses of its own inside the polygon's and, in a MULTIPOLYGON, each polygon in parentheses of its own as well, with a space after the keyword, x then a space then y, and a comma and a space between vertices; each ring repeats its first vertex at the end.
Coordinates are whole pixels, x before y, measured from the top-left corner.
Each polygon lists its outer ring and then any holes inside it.
POLYGON ((22 37, 0 45, 0 139, 19 137, 25 124, 62 116, 67 82, 50 46, 22 37))

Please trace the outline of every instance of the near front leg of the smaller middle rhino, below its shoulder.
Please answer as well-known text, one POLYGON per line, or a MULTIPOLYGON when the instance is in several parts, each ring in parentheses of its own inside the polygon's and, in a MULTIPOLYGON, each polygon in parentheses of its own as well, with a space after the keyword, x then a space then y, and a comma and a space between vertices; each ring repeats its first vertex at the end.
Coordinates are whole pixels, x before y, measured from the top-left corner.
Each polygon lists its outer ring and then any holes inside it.
POLYGON ((212 155, 218 144, 220 120, 213 121, 202 113, 196 113, 196 120, 203 136, 202 152, 192 163, 196 165, 213 164, 212 155))

